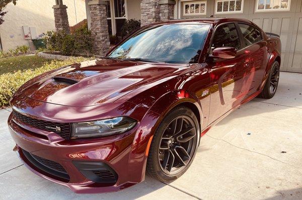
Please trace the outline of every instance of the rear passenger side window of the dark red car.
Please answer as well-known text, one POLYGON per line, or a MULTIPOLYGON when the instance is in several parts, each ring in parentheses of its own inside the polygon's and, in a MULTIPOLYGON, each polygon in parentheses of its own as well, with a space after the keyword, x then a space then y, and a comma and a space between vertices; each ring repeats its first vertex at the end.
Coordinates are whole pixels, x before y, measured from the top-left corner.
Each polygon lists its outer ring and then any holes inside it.
POLYGON ((243 41, 246 46, 251 45, 253 43, 258 42, 261 40, 261 34, 258 31, 258 33, 255 31, 253 26, 247 25, 247 24, 239 24, 240 30, 243 35, 243 41), (259 38, 260 36, 260 38, 259 38))

